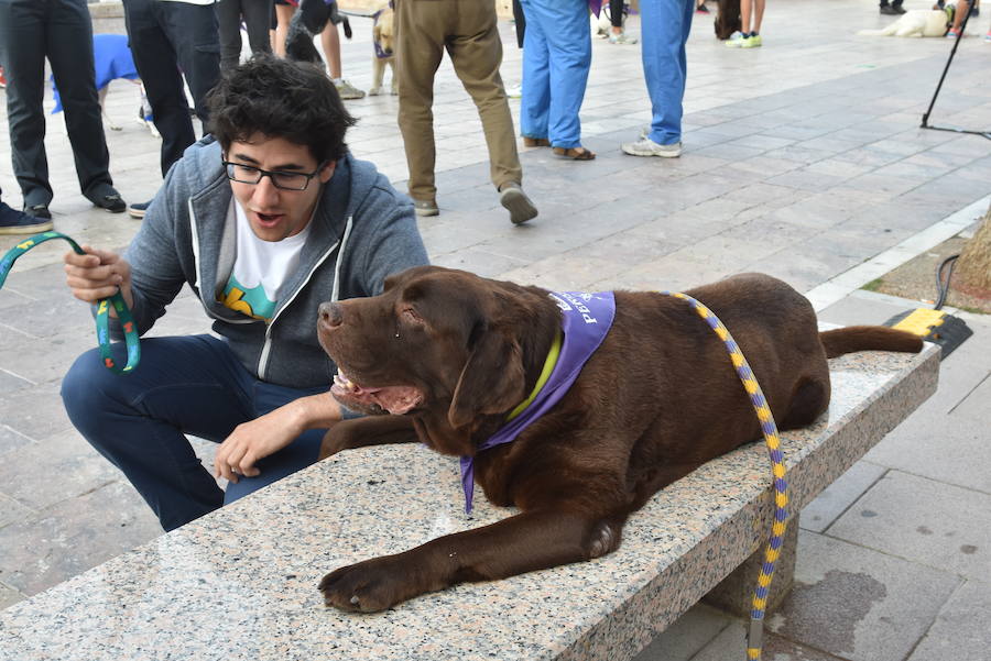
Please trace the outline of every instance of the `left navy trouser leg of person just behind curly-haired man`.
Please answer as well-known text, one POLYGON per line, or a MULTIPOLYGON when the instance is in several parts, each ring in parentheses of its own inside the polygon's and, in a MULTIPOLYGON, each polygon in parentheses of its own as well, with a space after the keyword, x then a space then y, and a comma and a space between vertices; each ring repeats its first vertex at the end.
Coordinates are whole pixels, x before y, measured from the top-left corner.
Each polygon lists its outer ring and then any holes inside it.
MULTIPOLYGON (((159 24, 157 0, 123 0, 124 22, 134 66, 144 85, 155 128, 162 135, 162 176, 196 142, 189 104, 178 70, 178 55, 159 24)), ((175 4, 174 2, 171 4, 175 4)))

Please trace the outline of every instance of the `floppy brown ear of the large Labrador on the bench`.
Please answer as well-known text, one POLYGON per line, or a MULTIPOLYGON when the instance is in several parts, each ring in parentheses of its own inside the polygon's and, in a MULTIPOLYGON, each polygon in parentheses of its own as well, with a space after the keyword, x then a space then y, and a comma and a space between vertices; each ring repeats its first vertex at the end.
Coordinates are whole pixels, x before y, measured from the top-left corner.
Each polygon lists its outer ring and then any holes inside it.
POLYGON ((458 378, 448 421, 458 429, 477 415, 510 410, 523 400, 524 381, 520 343, 499 331, 481 331, 458 378))

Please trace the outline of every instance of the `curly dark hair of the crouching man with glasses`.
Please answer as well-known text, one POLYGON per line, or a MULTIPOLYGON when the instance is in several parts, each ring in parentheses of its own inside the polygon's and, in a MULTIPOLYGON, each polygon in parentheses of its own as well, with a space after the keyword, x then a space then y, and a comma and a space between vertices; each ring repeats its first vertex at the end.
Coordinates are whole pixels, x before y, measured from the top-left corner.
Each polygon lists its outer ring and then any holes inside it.
POLYGON ((261 134, 304 145, 318 163, 347 154, 345 133, 356 122, 323 68, 269 54, 227 71, 207 103, 224 151, 261 134))

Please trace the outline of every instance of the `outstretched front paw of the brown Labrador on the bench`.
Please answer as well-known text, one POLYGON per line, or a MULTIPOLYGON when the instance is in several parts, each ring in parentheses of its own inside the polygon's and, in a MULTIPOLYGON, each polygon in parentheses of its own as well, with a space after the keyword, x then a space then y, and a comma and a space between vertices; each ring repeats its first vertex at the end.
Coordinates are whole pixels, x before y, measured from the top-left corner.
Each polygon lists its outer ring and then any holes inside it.
POLYGON ((374 613, 423 593, 416 572, 398 555, 374 558, 333 571, 320 581, 324 604, 341 610, 374 613))

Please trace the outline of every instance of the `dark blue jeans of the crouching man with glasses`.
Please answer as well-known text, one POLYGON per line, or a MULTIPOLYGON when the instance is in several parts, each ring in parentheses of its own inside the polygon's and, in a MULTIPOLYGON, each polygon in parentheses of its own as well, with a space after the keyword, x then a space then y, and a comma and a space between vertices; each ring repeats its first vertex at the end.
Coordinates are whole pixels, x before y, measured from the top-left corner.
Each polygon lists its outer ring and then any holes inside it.
POLYGON ((96 349, 88 351, 62 382, 62 399, 76 429, 172 530, 316 462, 324 437, 324 430, 303 433, 259 461, 261 474, 241 477, 225 494, 186 433, 219 443, 241 422, 328 389, 261 382, 224 340, 193 335, 142 339, 141 363, 126 376, 104 367, 96 349))

